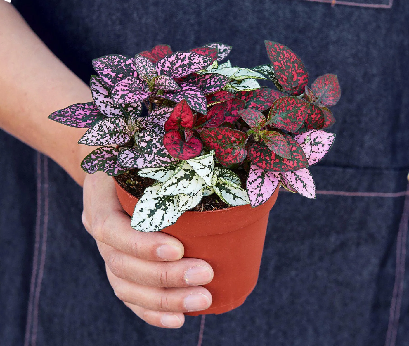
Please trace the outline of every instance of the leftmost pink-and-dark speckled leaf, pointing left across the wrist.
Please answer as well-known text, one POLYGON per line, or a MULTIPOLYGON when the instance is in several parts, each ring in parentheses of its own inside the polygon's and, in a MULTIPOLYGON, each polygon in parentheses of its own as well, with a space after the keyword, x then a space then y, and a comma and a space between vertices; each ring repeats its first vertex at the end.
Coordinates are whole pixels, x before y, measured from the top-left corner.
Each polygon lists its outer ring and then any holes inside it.
POLYGON ((77 128, 89 128, 103 118, 94 102, 76 103, 53 112, 48 119, 77 128))

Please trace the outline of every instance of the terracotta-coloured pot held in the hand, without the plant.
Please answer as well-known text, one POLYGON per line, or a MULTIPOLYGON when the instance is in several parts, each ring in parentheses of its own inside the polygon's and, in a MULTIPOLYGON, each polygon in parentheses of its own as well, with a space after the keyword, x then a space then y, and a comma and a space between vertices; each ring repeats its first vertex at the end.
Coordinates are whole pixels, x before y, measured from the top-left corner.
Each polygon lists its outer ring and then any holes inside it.
MULTIPOLYGON (((119 201, 132 216, 137 198, 114 179, 119 201)), ((203 287, 212 294, 211 306, 185 315, 221 314, 237 308, 256 286, 268 214, 279 189, 264 204, 249 204, 215 211, 187 211, 162 232, 178 238, 184 257, 207 261, 214 271, 213 280, 203 287)))

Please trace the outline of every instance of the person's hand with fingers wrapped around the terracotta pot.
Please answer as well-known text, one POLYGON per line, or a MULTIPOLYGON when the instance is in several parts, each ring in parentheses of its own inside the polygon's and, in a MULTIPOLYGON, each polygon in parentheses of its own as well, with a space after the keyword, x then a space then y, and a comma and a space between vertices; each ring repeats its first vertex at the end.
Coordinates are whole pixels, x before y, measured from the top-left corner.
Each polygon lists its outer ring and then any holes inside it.
POLYGON ((116 296, 148 324, 179 328, 183 312, 207 309, 210 292, 199 285, 213 279, 211 266, 182 258, 182 243, 162 232, 130 227, 112 177, 87 175, 83 186, 85 229, 97 241, 116 296))

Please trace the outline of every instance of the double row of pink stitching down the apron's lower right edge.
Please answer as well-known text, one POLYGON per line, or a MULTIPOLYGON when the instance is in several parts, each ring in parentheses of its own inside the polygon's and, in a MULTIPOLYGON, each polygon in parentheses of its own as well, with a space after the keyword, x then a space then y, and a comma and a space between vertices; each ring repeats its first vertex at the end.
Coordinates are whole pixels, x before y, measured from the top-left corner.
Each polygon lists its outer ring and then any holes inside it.
MULTIPOLYGON (((407 187, 407 192, 409 192, 409 184, 407 187)), ((395 346, 396 344, 396 335, 398 333, 400 318, 400 307, 402 304, 403 283, 405 279, 408 222, 409 222, 409 193, 405 198, 405 204, 403 206, 402 211, 402 218, 400 219, 399 223, 398 238, 396 240, 395 283, 393 285, 391 308, 389 310, 389 323, 385 338, 385 346, 395 346)))

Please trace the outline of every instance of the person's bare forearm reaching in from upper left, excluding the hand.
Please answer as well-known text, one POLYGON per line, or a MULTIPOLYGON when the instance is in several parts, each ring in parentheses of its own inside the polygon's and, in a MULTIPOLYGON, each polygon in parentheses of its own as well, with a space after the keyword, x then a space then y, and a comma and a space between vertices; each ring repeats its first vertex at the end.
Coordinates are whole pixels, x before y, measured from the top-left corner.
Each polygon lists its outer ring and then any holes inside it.
POLYGON ((82 185, 80 162, 91 148, 77 141, 85 129, 63 126, 47 116, 92 101, 88 86, 1 0, 0 47, 0 128, 51 157, 82 185))

